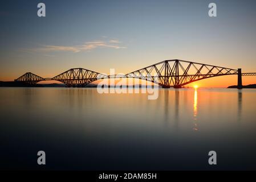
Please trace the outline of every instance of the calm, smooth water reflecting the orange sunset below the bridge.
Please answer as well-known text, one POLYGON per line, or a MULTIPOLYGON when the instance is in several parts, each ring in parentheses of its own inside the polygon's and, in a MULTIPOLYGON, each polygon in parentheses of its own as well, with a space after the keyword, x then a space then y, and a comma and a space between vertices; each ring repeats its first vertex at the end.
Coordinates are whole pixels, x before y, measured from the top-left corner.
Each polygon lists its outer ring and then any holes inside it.
POLYGON ((1 88, 1 169, 256 169, 256 90, 1 88), (46 152, 46 166, 36 163, 46 152), (209 166, 208 152, 217 152, 209 166))

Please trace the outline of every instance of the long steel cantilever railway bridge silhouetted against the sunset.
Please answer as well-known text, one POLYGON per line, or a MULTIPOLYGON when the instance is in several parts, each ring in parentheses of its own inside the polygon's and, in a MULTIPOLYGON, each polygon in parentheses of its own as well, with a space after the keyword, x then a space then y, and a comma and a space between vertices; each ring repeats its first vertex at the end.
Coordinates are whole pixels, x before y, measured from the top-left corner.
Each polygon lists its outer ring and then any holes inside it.
POLYGON ((14 81, 24 82, 32 86, 39 81, 55 80, 63 82, 67 87, 84 87, 96 80, 123 77, 151 81, 162 88, 181 88, 195 81, 225 75, 237 75, 238 89, 242 89, 242 76, 256 76, 256 73, 242 73, 241 68, 231 69, 176 59, 161 61, 126 75, 104 75, 89 69, 73 68, 52 78, 43 78, 28 72, 14 81))

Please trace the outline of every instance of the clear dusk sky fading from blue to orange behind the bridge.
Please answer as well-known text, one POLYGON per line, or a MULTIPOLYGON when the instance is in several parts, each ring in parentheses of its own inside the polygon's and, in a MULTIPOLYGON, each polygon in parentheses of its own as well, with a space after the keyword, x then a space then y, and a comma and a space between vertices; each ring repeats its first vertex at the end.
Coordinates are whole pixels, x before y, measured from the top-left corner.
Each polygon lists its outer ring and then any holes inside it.
MULTIPOLYGON (((0 80, 26 72, 54 77, 70 68, 128 73, 181 59, 256 72, 256 1, 1 1, 0 80), (46 17, 38 17, 38 3, 46 17), (209 17, 209 3, 217 17, 209 17)), ((243 84, 256 77, 243 77, 243 84)), ((236 76, 198 82, 237 84, 236 76)))

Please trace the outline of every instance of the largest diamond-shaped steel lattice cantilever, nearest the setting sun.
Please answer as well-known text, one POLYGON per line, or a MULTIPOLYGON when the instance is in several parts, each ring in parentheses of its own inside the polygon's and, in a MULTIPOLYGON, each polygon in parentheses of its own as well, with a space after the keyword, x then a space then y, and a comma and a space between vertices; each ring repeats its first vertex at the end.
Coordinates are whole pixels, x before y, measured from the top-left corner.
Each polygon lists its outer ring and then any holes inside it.
POLYGON ((165 60, 128 73, 126 76, 145 80, 146 74, 151 76, 152 82, 161 86, 181 87, 209 77, 237 75, 237 69, 217 67, 192 61, 165 60), (154 80, 156 75, 159 77, 158 82, 154 80))

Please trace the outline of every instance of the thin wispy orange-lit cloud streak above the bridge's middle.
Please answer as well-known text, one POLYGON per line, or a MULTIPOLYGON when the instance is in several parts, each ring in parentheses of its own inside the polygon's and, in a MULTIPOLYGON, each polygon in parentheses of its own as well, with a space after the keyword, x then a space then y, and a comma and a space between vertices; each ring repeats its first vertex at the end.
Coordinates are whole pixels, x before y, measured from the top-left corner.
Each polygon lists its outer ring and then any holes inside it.
POLYGON ((69 52, 82 52, 91 51, 96 48, 113 48, 113 49, 124 49, 124 46, 118 46, 116 43, 120 43, 119 40, 109 40, 109 42, 104 42, 96 40, 93 42, 86 42, 79 46, 43 46, 37 48, 36 51, 69 51, 69 52))

